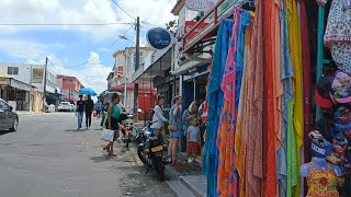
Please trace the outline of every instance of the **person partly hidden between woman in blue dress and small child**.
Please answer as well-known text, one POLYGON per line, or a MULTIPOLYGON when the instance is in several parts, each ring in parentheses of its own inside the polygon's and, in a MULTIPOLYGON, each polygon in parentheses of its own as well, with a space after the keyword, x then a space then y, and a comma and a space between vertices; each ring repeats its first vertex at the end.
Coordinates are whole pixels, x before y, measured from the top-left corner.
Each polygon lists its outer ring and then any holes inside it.
POLYGON ((192 102, 189 107, 183 112, 182 115, 182 124, 183 124, 183 135, 182 138, 180 139, 181 143, 181 151, 185 152, 186 151, 186 134, 188 134, 188 128, 191 126, 190 123, 190 116, 197 116, 197 102, 192 102))

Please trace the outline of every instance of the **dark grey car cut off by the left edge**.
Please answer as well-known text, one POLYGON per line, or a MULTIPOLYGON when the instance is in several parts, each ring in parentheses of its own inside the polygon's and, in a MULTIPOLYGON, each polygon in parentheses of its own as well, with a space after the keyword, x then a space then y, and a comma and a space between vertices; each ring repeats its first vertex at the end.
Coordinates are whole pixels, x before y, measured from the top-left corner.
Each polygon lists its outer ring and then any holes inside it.
POLYGON ((19 115, 13 112, 12 106, 0 99, 0 130, 16 131, 19 123, 19 115))

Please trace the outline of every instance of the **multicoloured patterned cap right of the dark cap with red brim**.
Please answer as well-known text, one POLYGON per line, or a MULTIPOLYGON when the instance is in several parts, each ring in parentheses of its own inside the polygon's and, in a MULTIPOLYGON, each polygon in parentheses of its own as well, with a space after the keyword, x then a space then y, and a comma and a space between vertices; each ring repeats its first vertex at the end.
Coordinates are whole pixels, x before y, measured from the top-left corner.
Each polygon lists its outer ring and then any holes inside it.
POLYGON ((342 71, 337 71, 331 81, 331 95, 338 103, 351 102, 351 77, 342 71))

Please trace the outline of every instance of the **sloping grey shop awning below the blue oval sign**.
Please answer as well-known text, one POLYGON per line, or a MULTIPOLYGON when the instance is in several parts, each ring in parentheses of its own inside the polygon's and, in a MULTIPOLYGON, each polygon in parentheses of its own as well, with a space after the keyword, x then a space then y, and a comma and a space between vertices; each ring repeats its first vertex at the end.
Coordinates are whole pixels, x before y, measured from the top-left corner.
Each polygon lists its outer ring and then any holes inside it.
POLYGON ((158 76, 165 77, 166 70, 171 68, 172 47, 155 51, 146 60, 144 67, 134 72, 132 80, 134 83, 150 82, 158 76))

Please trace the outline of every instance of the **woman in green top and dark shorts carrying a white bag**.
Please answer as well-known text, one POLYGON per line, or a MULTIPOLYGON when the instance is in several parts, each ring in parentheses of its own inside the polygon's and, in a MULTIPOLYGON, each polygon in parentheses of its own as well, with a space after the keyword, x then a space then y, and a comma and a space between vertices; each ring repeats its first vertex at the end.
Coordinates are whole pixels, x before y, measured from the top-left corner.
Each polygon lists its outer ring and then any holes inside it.
POLYGON ((109 144, 103 148, 103 150, 107 151, 110 157, 116 157, 113 152, 113 143, 116 139, 120 138, 120 125, 118 125, 118 118, 121 115, 120 107, 120 96, 117 93, 113 93, 111 103, 107 111, 107 120, 106 120, 106 128, 110 130, 114 130, 114 137, 113 141, 110 141, 109 144))

